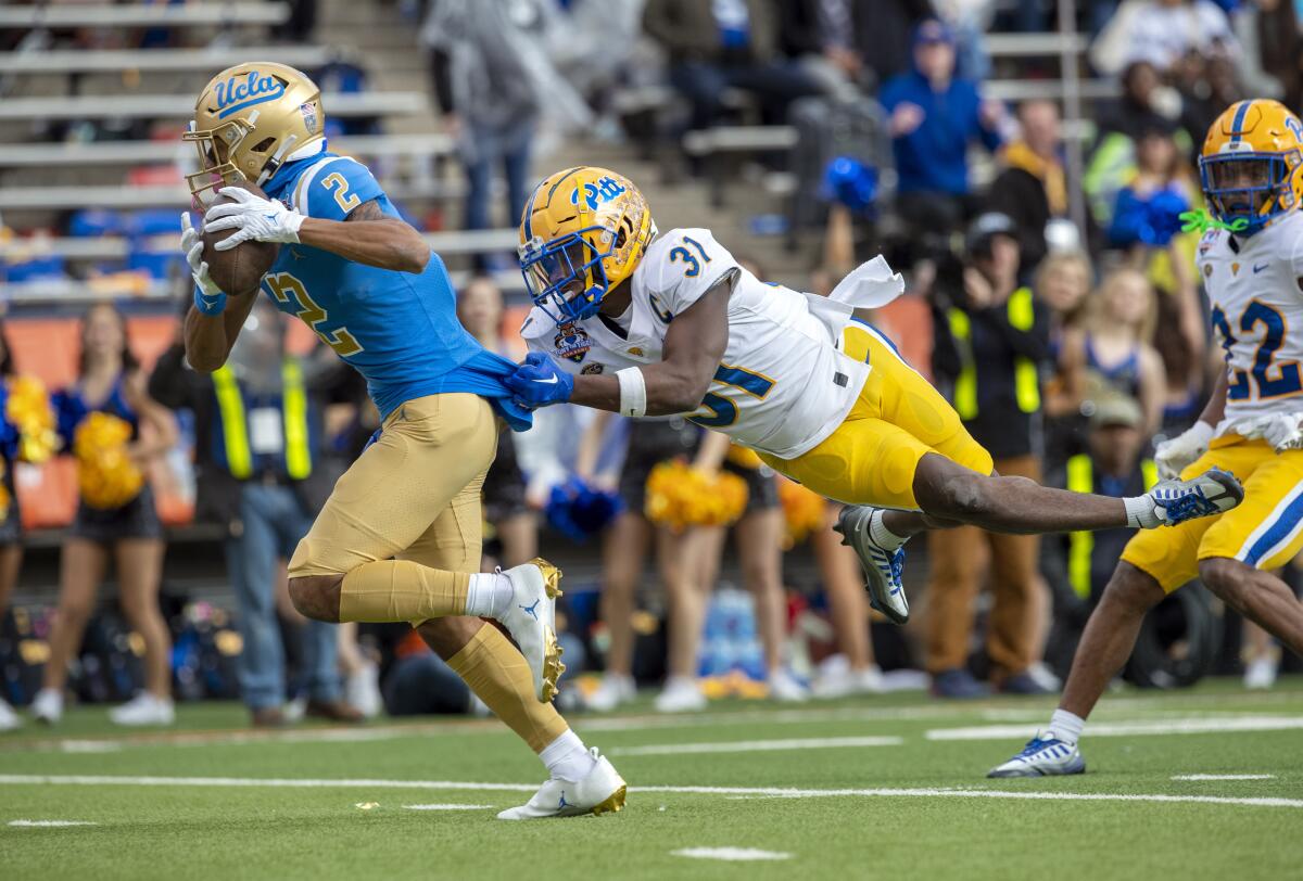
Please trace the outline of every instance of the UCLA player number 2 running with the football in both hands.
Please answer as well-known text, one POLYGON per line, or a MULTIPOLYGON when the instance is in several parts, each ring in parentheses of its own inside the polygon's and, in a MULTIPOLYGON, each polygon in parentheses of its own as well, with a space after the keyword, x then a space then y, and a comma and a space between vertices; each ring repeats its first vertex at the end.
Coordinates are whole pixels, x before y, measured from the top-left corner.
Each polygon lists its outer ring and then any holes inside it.
MULTIPOLYGON (((366 377, 378 439, 340 478, 289 562, 300 612, 321 621, 410 621, 470 688, 542 757, 550 779, 504 819, 602 813, 624 781, 552 708, 564 666, 556 645, 560 573, 536 560, 476 574, 480 488, 498 418, 529 427, 502 383, 515 364, 457 323, 447 269, 404 223, 365 165, 328 151, 317 86, 281 64, 242 64, 201 92, 185 141, 188 176, 208 204, 215 247, 279 242, 259 289, 302 319, 366 377), (267 198, 231 186, 255 183, 267 198), (215 194, 227 197, 211 204, 215 194), (502 623, 520 647, 481 618, 502 623), (524 655, 524 657, 521 657, 524 655)), ((182 246, 195 290, 186 315, 190 366, 219 368, 254 302, 208 275, 189 215, 182 246)))

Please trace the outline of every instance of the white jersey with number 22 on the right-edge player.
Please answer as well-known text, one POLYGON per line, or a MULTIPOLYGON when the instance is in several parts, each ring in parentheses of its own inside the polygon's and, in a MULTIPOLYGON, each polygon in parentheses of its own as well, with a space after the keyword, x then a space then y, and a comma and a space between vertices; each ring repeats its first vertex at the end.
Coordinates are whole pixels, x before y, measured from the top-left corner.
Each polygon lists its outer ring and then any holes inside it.
POLYGON ((1295 211, 1248 237, 1209 230, 1197 264, 1229 371, 1218 433, 1303 410, 1303 215, 1295 211))

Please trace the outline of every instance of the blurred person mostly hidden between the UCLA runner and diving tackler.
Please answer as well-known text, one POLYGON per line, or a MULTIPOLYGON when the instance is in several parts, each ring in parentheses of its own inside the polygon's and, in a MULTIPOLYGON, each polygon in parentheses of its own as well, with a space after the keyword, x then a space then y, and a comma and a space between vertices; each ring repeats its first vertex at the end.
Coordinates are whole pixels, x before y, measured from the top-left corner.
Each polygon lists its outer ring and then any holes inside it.
MULTIPOLYGON (((489 276, 477 276, 457 293, 457 319, 490 351, 509 355, 502 333, 502 291, 489 276)), ((502 565, 519 566, 538 556, 538 515, 525 498, 525 475, 516 455, 515 432, 498 435, 498 457, 483 485, 483 518, 502 545, 502 565)))

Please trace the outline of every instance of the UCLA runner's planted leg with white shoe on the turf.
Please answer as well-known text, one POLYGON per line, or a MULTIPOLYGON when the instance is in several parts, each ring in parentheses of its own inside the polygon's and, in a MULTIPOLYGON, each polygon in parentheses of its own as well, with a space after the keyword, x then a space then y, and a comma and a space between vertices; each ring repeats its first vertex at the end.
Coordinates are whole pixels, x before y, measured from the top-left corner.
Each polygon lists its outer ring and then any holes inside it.
MULTIPOLYGON (((457 493, 403 558, 431 569, 477 571, 483 544, 482 483, 481 475, 457 493)), ((529 664, 498 627, 480 618, 457 616, 425 621, 417 626, 417 632, 476 696, 538 753, 550 774, 543 789, 549 790, 556 781, 571 787, 567 806, 575 811, 562 811, 558 798, 546 798, 539 806, 532 800, 523 808, 512 808, 507 812, 513 815, 509 819, 602 813, 624 806, 624 781, 606 759, 584 747, 551 703, 536 700, 529 664)))

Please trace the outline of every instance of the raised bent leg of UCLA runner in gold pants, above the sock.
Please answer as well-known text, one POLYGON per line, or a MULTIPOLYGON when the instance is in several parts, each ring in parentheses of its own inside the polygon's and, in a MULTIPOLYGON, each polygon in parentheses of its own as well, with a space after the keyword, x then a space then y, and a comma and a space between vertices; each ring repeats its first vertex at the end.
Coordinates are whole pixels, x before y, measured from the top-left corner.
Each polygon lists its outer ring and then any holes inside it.
POLYGON ((289 562, 294 605, 321 621, 423 621, 463 614, 468 573, 394 560, 496 452, 487 401, 435 394, 390 414, 335 484, 289 562))

